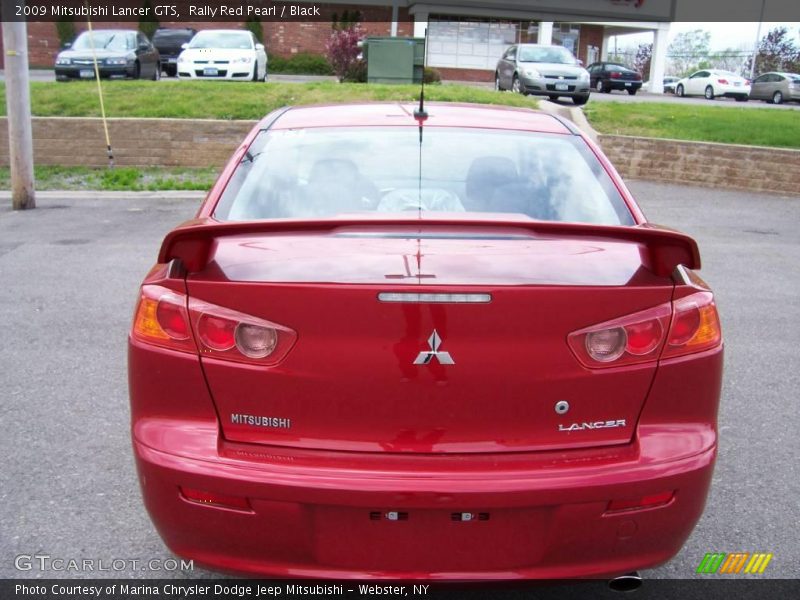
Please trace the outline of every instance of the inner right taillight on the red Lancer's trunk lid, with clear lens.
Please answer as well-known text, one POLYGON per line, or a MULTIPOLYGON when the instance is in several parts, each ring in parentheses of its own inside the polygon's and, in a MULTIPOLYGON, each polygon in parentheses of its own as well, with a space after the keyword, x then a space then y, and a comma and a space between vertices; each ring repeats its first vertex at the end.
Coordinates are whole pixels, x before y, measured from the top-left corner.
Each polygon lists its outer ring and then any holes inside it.
POLYGON ((655 360, 669 326, 670 305, 599 323, 571 333, 568 342, 587 367, 617 367, 655 360))

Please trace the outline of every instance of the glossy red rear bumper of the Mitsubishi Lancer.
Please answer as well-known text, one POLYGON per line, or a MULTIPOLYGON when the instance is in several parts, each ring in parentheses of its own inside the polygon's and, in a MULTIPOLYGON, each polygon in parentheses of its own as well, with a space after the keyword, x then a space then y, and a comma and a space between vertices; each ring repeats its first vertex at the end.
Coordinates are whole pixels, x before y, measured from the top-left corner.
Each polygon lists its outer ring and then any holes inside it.
POLYGON ((716 433, 642 427, 633 444, 600 451, 361 456, 231 444, 211 421, 141 419, 134 450, 159 533, 199 564, 285 577, 572 578, 678 552, 703 510, 716 433), (198 504, 181 487, 245 497, 252 510, 198 504), (610 500, 671 490, 667 505, 607 512, 610 500), (463 512, 481 518, 453 520, 463 512))

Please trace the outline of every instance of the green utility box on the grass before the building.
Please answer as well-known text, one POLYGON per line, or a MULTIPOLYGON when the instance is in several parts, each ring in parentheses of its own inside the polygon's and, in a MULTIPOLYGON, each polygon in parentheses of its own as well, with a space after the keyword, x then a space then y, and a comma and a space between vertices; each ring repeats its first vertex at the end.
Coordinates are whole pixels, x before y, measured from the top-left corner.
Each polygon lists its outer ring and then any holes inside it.
POLYGON ((425 38, 368 37, 363 53, 368 83, 422 83, 425 38))

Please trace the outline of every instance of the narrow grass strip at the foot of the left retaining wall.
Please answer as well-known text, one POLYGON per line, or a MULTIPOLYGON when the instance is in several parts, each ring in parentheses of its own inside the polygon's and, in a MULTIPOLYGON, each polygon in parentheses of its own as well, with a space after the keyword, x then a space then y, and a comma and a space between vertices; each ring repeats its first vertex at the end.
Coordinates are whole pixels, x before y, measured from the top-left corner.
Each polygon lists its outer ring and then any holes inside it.
MULTIPOLYGON (((219 169, 156 167, 35 167, 37 190, 155 192, 209 190, 219 169)), ((0 167, 0 189, 10 189, 8 167, 0 167)))

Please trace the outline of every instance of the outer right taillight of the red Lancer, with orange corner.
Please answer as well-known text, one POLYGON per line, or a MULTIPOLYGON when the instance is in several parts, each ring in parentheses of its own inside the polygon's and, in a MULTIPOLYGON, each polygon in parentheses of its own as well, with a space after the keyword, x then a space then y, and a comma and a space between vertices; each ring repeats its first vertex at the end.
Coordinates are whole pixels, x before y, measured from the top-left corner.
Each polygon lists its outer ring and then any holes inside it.
POLYGON ((708 350, 721 342, 722 328, 711 292, 697 292, 674 302, 664 357, 708 350))

